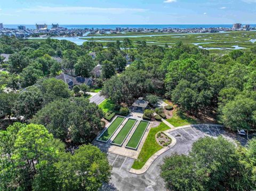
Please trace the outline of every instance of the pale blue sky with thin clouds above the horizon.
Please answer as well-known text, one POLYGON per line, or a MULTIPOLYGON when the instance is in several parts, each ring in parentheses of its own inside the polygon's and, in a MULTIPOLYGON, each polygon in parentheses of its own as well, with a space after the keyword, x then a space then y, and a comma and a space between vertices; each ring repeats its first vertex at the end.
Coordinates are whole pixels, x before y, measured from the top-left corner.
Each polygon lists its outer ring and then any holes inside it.
POLYGON ((4 24, 256 23, 256 0, 0 0, 4 24))

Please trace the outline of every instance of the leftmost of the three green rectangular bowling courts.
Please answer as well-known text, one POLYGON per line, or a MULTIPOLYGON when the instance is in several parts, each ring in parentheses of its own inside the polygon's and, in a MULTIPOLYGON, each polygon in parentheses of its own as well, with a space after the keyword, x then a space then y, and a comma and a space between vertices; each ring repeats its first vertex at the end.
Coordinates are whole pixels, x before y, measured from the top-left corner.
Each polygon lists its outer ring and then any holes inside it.
POLYGON ((101 140, 103 142, 107 142, 108 139, 111 138, 111 136, 115 133, 117 128, 121 125, 123 122, 123 117, 117 117, 115 121, 113 121, 110 126, 103 132, 103 134, 99 137, 98 140, 101 140))

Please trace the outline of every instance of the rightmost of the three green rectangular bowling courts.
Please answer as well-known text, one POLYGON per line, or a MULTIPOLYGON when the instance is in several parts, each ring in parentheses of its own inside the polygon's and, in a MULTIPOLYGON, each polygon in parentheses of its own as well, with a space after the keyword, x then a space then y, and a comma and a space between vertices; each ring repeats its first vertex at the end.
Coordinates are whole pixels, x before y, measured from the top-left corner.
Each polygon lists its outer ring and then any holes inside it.
POLYGON ((137 149, 137 147, 140 143, 140 140, 141 140, 142 136, 144 135, 146 128, 148 127, 148 123, 149 122, 147 122, 147 121, 140 121, 140 123, 138 124, 138 127, 133 132, 132 137, 130 138, 126 147, 137 149))

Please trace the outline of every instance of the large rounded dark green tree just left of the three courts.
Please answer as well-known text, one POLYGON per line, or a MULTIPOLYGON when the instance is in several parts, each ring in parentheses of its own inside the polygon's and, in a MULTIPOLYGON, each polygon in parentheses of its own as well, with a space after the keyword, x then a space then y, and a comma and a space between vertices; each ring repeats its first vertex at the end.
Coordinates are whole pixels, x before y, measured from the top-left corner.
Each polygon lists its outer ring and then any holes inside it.
POLYGON ((43 124, 55 138, 76 144, 90 143, 102 129, 102 111, 84 98, 60 99, 36 113, 34 123, 43 124))

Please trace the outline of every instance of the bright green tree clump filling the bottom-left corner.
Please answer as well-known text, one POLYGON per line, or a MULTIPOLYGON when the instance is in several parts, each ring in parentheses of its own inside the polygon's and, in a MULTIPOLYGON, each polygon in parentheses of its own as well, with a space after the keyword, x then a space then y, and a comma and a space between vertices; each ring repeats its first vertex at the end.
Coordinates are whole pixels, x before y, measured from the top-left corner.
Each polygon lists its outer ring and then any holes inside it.
POLYGON ((71 155, 38 124, 14 123, 0 131, 0 154, 1 190, 98 190, 110 178, 99 148, 81 146, 71 155))

